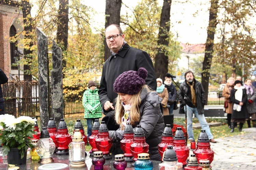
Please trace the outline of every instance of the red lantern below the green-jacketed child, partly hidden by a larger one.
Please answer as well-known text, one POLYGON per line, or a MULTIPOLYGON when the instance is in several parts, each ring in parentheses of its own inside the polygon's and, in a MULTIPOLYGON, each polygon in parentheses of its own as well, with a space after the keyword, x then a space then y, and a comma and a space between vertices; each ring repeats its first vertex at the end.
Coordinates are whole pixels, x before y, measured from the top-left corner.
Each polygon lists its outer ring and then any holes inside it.
POLYGON ((93 153, 95 151, 98 151, 98 148, 96 147, 95 139, 98 138, 98 131, 99 131, 100 123, 99 119, 95 119, 93 123, 93 128, 91 129, 91 136, 89 136, 89 144, 91 146, 90 150, 90 156, 93 157, 93 153))

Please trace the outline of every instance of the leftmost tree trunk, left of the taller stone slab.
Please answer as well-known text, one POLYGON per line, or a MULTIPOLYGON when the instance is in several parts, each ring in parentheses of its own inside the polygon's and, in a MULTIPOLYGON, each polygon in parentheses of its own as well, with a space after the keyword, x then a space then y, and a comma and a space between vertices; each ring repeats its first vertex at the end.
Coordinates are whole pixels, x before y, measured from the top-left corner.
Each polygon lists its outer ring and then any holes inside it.
POLYGON ((22 97, 22 110, 26 112, 30 111, 30 105, 32 103, 32 75, 30 73, 31 70, 31 61, 32 61, 32 53, 30 47, 33 46, 32 41, 32 19, 31 19, 31 6, 29 1, 22 0, 22 13, 23 13, 23 23, 24 23, 24 38, 28 39, 26 41, 25 46, 29 48, 24 48, 24 58, 28 59, 28 65, 24 65, 24 86, 23 86, 23 97, 22 97))

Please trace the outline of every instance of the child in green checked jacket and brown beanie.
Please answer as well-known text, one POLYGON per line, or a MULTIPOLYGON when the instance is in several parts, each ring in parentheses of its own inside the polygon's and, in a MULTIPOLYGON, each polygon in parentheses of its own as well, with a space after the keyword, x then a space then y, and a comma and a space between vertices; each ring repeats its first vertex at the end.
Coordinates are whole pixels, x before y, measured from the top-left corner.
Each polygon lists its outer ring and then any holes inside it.
POLYGON ((99 101, 98 89, 94 81, 88 82, 88 90, 83 95, 84 118, 87 121, 87 137, 91 136, 91 129, 95 119, 101 118, 101 104, 99 101))

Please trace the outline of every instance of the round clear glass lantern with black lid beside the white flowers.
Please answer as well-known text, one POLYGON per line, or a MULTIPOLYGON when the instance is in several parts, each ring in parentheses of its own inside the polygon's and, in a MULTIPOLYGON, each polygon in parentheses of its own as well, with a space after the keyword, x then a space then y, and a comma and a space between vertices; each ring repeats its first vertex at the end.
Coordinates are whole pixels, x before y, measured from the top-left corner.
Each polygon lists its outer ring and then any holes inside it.
POLYGON ((40 139, 37 141, 35 149, 40 156, 39 163, 48 164, 53 162, 52 154, 55 150, 55 144, 46 130, 46 127, 42 128, 40 139))

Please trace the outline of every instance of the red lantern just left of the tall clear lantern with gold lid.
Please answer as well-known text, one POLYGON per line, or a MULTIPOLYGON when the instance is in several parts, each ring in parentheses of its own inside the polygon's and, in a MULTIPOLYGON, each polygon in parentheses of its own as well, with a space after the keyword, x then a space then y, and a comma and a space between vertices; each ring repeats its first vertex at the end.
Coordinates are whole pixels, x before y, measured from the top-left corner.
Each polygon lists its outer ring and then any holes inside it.
POLYGON ((71 135, 68 134, 67 124, 64 119, 60 119, 57 135, 55 136, 56 143, 58 145, 57 155, 68 155, 69 154, 69 143, 71 141, 71 135))

